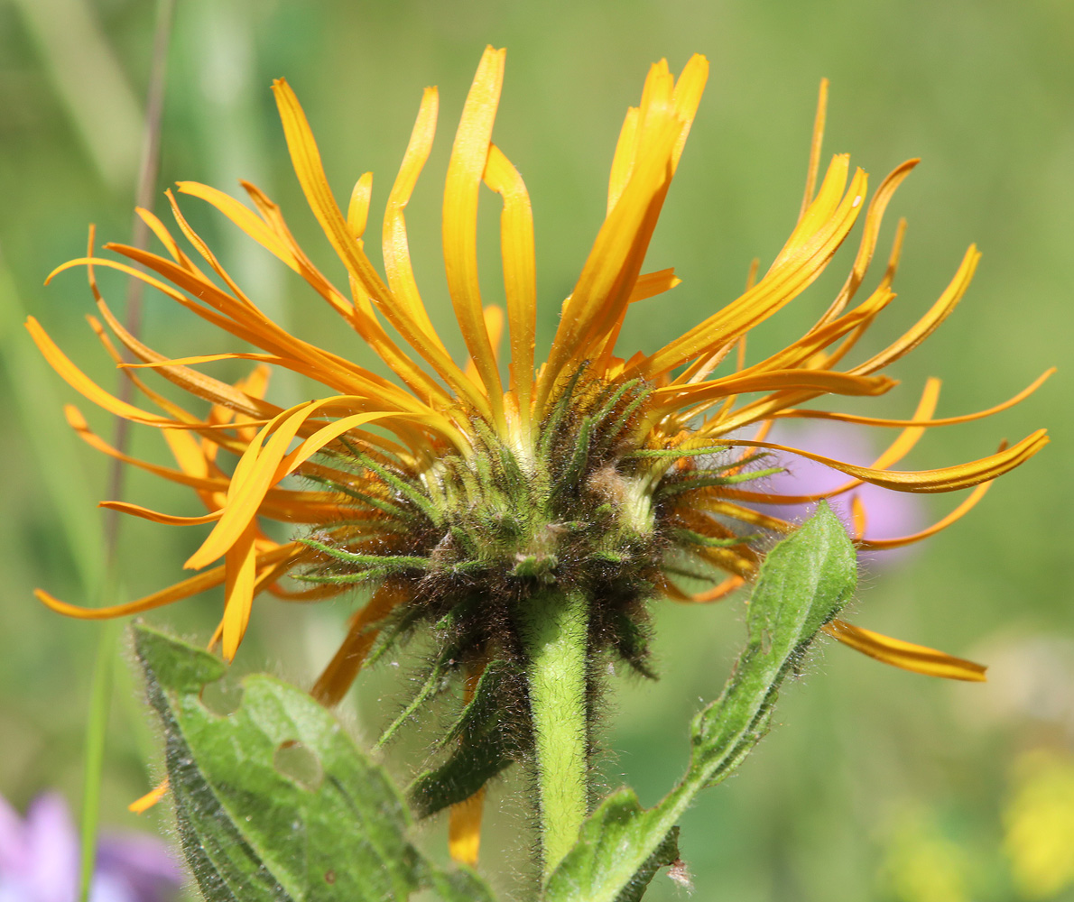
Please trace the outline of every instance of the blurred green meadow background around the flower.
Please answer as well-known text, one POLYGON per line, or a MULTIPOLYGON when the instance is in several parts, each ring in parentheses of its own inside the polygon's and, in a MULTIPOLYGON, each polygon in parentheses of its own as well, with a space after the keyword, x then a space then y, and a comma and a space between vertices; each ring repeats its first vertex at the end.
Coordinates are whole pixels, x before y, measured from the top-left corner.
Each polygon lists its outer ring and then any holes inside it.
MULTIPOLYGON (((106 480, 104 460, 63 424, 60 405, 73 393, 39 359, 20 320, 32 312, 89 374, 115 384, 83 319, 91 309, 83 277, 69 274, 47 289, 42 281, 83 253, 88 222, 101 239, 129 237, 153 27, 146 0, 0 2, 0 792, 17 805, 50 786, 75 802, 81 792, 100 627, 47 612, 31 591, 97 603, 102 521, 95 504, 106 480)), ((909 467, 983 456, 999 439, 1041 425, 1055 441, 1000 480, 972 515, 872 567, 855 605, 861 625, 992 665, 990 682, 943 684, 825 648, 786 692, 779 725, 740 775, 685 818, 682 852, 695 898, 1074 899, 1074 431, 1064 368, 1074 325, 1074 4, 179 0, 161 191, 180 178, 238 191, 236 179, 249 178, 338 276, 290 171, 272 78, 287 76, 297 91, 337 198, 362 172, 376 173, 371 234, 421 89, 439 85, 440 135, 408 221, 426 304, 461 349, 441 274, 439 185, 485 43, 509 48, 496 141, 534 201, 546 343, 601 220, 618 129, 647 67, 666 56, 678 72, 699 52, 711 78, 648 262, 673 265, 684 285, 638 308, 623 334, 627 355, 655 349, 736 296, 754 256, 763 266, 772 259, 797 215, 816 87, 828 76, 826 156, 852 152, 872 187, 903 159, 924 158, 881 238, 886 254, 897 217, 909 218, 900 296, 865 351, 932 303, 971 242, 985 253, 955 316, 895 367, 902 387, 841 409, 910 416, 934 375, 944 380, 939 416, 969 412, 1011 396, 1049 365, 1061 367, 1019 407, 926 436, 909 467)), ((484 291, 495 302, 498 203, 488 192, 484 203, 484 291)), ((156 208, 166 208, 159 193, 156 208)), ((373 364, 284 267, 197 201, 185 209, 264 309, 304 338, 373 364)), ((852 253, 845 249, 825 278, 758 330, 751 358, 798 337, 827 306, 852 253)), ((121 307, 121 281, 104 287, 121 307)), ((144 334, 175 355, 237 350, 153 294, 144 334)), ((293 403, 306 391, 279 379, 273 397, 293 403)), ((79 406, 111 435, 106 418, 79 406)), ((165 460, 159 436, 139 433, 133 448, 165 460)), ((195 512, 190 498, 148 477, 130 475, 126 491, 153 508, 195 512)), ((923 517, 937 519, 957 501, 926 497, 923 517)), ((200 536, 126 523, 125 597, 178 579, 200 536)), ((349 608, 259 602, 237 666, 307 684, 349 608)), ((151 620, 204 641, 218 612, 219 599, 204 597, 151 620)), ((626 781, 648 803, 681 773, 688 718, 719 692, 742 636, 741 613, 741 599, 654 606, 663 676, 611 681, 609 786, 626 781)), ((372 732, 405 697, 401 681, 413 675, 416 660, 393 664, 360 681, 348 713, 357 729, 372 732)), ((142 820, 126 812, 150 785, 155 739, 136 684, 120 669, 103 823, 166 830, 163 812, 142 820)), ((407 761, 406 745, 398 759, 400 772, 416 761, 407 761)), ((505 893, 518 885, 532 842, 526 816, 509 800, 520 785, 516 777, 493 792, 485 831, 485 863, 504 874, 505 893)), ((430 842, 441 832, 434 825, 430 842)), ((659 876, 651 898, 685 892, 659 876)))

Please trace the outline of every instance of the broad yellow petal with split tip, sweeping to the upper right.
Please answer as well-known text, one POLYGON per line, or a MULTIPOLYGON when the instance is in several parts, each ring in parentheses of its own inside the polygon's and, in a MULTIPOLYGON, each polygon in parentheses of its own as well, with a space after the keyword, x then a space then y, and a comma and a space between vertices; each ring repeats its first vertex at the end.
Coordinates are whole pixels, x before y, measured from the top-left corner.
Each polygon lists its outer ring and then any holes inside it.
POLYGON ((866 174, 858 170, 842 201, 848 159, 837 157, 817 199, 765 277, 738 300, 633 368, 644 378, 668 373, 701 354, 734 345, 811 285, 846 237, 861 208, 866 174))

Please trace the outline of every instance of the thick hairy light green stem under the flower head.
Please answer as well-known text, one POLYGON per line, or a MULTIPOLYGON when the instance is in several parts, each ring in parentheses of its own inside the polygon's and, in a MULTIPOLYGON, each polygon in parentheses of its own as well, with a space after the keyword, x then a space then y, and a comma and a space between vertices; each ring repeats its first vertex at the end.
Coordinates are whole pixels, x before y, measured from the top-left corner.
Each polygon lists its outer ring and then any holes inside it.
POLYGON ((580 592, 538 592, 520 612, 519 632, 528 657, 547 877, 578 841, 589 813, 587 599, 580 592))

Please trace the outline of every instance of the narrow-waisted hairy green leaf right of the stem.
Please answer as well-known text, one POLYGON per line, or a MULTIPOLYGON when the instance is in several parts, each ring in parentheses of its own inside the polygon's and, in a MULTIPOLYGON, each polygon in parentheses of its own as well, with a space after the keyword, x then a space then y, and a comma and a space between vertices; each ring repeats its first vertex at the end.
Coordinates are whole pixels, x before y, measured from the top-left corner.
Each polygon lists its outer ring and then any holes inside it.
POLYGON ((822 504, 768 553, 750 599, 746 645, 720 698, 694 718, 683 781, 649 810, 630 790, 605 799, 549 877, 546 902, 640 899, 661 863, 669 863, 676 821, 701 789, 730 774, 765 734, 783 681, 856 583, 854 547, 822 504))

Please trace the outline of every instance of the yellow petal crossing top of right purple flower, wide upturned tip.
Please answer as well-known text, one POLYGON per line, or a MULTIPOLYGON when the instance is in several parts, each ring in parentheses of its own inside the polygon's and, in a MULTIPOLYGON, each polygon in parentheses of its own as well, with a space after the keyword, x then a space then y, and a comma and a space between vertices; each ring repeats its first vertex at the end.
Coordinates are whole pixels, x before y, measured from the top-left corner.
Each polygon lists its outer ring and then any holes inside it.
POLYGON ((768 441, 716 439, 715 443, 786 451, 790 454, 798 454, 801 457, 809 457, 809 460, 816 461, 819 464, 826 464, 832 469, 838 469, 863 482, 871 482, 873 485, 894 489, 897 492, 928 494, 969 489, 971 485, 977 485, 986 480, 1002 476, 1032 457, 1048 443, 1048 440, 1047 430, 1037 430, 1005 451, 989 454, 987 457, 970 461, 966 464, 958 464, 953 467, 940 467, 939 469, 931 470, 882 470, 872 467, 859 467, 854 464, 833 460, 832 457, 825 457, 821 454, 812 454, 809 451, 788 448, 785 445, 773 445, 768 441))

